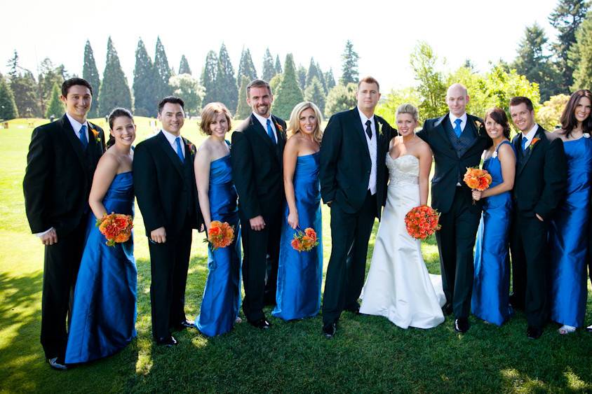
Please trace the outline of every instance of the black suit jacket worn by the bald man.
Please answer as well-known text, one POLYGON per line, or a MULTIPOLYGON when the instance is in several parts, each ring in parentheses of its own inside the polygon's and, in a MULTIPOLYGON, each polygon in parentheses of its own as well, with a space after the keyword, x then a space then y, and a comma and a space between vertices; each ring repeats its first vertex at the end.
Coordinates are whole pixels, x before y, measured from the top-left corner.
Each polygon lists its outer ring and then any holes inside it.
MULTIPOLYGON (((433 153, 435 171, 431 179, 431 206, 441 213, 450 211, 459 173, 462 176, 467 168, 478 167, 483 150, 492 143, 485 134, 483 120, 467 114, 465 127, 471 122, 477 134, 471 146, 459 156, 443 126, 443 122, 448 122, 448 119, 448 113, 440 118, 428 119, 424 122, 423 129, 417 132, 417 136, 429 144, 433 153)), ((466 192, 471 192, 464 182, 461 181, 461 185, 466 192)))

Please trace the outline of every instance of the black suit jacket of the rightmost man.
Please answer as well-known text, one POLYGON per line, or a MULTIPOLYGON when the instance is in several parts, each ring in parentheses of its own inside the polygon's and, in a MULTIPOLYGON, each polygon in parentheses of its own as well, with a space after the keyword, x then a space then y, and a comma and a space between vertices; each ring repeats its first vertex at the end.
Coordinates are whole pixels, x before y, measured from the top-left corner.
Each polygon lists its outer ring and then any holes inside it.
POLYGON ((534 138, 539 140, 527 150, 522 133, 512 140, 517 158, 513 195, 520 215, 547 219, 565 195, 567 161, 559 136, 539 125, 534 138))

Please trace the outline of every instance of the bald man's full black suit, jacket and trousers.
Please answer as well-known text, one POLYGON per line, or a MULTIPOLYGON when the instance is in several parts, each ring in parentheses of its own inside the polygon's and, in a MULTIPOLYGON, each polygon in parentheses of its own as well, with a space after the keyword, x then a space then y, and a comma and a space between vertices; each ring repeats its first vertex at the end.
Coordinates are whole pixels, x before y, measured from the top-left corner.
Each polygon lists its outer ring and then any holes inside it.
POLYGON ((468 167, 478 167, 483 150, 491 146, 483 121, 466 115, 458 138, 449 114, 428 119, 417 133, 429 144, 435 162, 431 180, 431 206, 440 211, 442 230, 436 232, 440 272, 446 302, 457 318, 468 318, 473 291, 473 246, 482 202, 472 203, 471 189, 462 181, 468 167))

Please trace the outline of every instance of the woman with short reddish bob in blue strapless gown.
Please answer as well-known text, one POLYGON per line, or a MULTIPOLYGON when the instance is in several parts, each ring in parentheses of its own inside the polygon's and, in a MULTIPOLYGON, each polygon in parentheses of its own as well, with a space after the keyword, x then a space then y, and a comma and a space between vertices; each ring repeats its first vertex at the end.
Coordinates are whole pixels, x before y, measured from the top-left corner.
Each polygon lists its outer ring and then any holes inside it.
POLYGON ((229 332, 240 322, 241 307, 241 237, 236 209, 236 190, 232 183, 230 143, 225 140, 230 129, 230 113, 222 103, 210 103, 201 111, 201 131, 208 135, 195 159, 195 178, 199 207, 206 232, 213 220, 234 226, 234 241, 226 248, 208 247, 208 279, 196 318, 198 330, 208 337, 229 332))

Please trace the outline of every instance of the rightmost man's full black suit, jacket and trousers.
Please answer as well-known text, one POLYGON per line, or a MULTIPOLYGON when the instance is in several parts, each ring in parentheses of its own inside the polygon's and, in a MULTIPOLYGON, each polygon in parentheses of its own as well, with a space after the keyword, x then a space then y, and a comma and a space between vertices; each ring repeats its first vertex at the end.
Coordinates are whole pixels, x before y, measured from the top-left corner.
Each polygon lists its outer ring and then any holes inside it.
POLYGON ((539 140, 527 150, 523 149, 522 134, 512 140, 517 163, 510 246, 513 302, 525 309, 528 325, 541 328, 548 307, 548 223, 565 195, 567 164, 558 136, 539 126, 534 138, 539 140))

